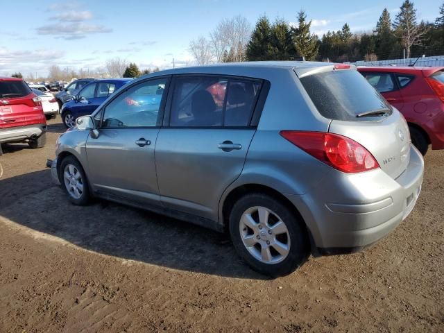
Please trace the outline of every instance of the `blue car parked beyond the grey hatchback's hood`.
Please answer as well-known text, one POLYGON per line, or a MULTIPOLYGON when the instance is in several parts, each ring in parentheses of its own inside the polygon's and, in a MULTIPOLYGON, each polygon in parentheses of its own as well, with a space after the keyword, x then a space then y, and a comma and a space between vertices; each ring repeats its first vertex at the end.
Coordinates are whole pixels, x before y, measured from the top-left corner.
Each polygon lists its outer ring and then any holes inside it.
POLYGON ((63 104, 60 115, 67 128, 76 126, 78 117, 92 114, 108 96, 117 92, 133 78, 103 78, 85 85, 74 99, 63 104))

